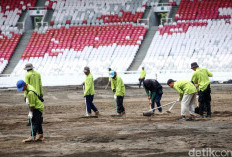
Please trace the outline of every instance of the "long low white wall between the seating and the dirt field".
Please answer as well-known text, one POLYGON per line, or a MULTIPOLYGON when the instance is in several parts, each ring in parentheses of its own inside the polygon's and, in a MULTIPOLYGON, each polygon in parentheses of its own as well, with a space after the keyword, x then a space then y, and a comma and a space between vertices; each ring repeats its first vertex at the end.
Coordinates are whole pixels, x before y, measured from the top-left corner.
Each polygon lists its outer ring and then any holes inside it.
MULTIPOLYGON (((140 72, 118 72, 118 75, 123 79, 125 84, 138 84, 140 72), (127 74, 126 74, 127 73, 127 74)), ((214 72, 211 81, 227 81, 232 79, 231 73, 214 72)), ((94 74, 94 79, 99 77, 108 77, 108 74, 94 74)), ((150 73, 147 74, 146 79, 157 79, 160 83, 167 82, 168 79, 174 80, 191 80, 192 73, 150 73)), ((24 80, 24 75, 21 76, 4 76, 0 77, 0 88, 16 87, 18 80, 24 80)), ((68 85, 81 85, 85 80, 84 74, 67 74, 67 75, 54 75, 42 76, 43 86, 68 86, 68 85)))

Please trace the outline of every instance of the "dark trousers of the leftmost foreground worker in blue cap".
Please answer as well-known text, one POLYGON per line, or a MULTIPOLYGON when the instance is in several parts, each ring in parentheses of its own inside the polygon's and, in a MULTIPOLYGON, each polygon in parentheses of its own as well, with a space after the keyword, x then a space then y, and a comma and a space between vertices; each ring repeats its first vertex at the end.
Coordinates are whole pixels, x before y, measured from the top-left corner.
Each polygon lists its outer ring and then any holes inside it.
POLYGON ((36 136, 36 134, 43 134, 43 116, 42 112, 40 112, 37 109, 33 110, 33 117, 32 117, 32 125, 33 125, 33 135, 36 136))

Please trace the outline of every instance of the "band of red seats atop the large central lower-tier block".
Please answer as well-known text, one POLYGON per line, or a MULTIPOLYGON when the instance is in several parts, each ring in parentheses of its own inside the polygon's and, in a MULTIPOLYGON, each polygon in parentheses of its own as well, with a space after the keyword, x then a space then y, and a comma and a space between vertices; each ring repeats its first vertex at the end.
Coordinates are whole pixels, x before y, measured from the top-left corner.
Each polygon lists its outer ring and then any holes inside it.
POLYGON ((26 57, 56 56, 62 52, 52 52, 54 49, 70 49, 82 51, 86 46, 109 46, 114 43, 118 45, 137 45, 141 41, 140 36, 144 37, 147 28, 143 26, 110 25, 110 26, 71 26, 65 29, 49 29, 46 33, 38 34, 34 32, 22 59, 26 57), (126 39, 130 36, 130 40, 126 39))

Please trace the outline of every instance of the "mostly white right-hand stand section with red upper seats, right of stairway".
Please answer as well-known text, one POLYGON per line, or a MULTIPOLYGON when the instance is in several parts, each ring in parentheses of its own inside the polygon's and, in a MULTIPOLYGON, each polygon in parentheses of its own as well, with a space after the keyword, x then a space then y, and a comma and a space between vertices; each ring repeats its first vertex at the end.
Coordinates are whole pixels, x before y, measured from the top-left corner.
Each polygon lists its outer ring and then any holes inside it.
POLYGON ((214 72, 214 79, 230 79, 231 11, 230 0, 182 0, 176 22, 158 27, 139 69, 145 66, 159 76, 189 78, 190 63, 197 61, 214 72))

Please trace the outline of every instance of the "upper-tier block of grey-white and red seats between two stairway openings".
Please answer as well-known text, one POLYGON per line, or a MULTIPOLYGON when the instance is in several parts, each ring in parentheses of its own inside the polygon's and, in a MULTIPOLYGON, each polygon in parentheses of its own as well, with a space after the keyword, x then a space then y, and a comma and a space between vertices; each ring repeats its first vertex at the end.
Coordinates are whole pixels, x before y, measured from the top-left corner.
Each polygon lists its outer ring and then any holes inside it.
POLYGON ((55 11, 50 25, 137 23, 142 18, 145 7, 145 0, 47 0, 45 3, 45 8, 55 11))

